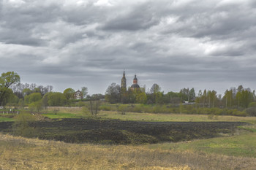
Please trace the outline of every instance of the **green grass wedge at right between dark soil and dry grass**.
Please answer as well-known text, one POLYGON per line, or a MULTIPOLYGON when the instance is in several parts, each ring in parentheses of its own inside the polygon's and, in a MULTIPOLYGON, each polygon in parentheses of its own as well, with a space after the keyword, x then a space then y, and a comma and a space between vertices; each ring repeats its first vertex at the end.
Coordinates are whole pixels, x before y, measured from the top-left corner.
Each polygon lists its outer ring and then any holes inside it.
MULTIPOLYGON (((239 132, 238 132, 239 133, 239 132)), ((235 136, 199 139, 189 142, 150 144, 148 148, 191 152, 216 153, 221 155, 256 158, 256 133, 235 136)))

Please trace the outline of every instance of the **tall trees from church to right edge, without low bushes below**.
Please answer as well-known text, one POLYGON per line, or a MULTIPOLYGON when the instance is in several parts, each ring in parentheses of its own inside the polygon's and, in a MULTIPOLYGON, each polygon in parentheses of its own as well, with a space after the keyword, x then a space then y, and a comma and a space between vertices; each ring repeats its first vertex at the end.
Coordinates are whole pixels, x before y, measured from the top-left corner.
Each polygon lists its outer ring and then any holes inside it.
POLYGON ((222 97, 216 90, 199 90, 195 93, 194 88, 182 88, 179 92, 167 92, 161 90, 159 85, 154 84, 146 92, 145 88, 132 90, 121 89, 120 85, 112 83, 105 93, 105 98, 110 103, 138 103, 138 104, 181 104, 195 103, 197 107, 221 107, 221 108, 247 108, 256 101, 255 90, 244 88, 230 88, 222 97))

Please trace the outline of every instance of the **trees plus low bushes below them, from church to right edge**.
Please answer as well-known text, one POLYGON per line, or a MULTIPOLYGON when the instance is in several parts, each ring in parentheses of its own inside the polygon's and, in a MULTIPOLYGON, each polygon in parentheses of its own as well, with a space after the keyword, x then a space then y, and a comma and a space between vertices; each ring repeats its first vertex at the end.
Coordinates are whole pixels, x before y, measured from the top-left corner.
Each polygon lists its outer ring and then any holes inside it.
POLYGON ((216 90, 199 90, 196 95, 194 88, 182 88, 179 92, 164 93, 159 85, 154 84, 146 92, 145 88, 127 90, 112 83, 106 90, 105 98, 112 104, 144 104, 122 106, 124 108, 121 109, 128 112, 256 116, 255 90, 242 85, 227 89, 222 97, 216 90), (154 107, 146 107, 145 104, 153 104, 154 107))

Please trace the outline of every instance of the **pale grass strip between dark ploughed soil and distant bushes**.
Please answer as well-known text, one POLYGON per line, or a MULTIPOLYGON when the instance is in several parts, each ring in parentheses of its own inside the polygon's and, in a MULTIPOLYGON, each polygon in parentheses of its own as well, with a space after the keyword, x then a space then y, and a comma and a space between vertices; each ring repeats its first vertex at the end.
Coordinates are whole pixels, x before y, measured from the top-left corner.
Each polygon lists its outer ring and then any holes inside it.
MULTIPOLYGON (((90 113, 84 114, 80 107, 49 107, 43 115, 50 118, 80 118, 89 117, 90 113), (58 110, 58 112, 54 112, 58 110)), ((126 112, 125 115, 118 114, 114 111, 99 111, 97 117, 102 119, 119 119, 135 121, 154 121, 154 122, 208 122, 208 121, 225 121, 225 122, 247 122, 256 124, 256 117, 238 117, 226 115, 189 115, 189 114, 154 114, 126 112)))

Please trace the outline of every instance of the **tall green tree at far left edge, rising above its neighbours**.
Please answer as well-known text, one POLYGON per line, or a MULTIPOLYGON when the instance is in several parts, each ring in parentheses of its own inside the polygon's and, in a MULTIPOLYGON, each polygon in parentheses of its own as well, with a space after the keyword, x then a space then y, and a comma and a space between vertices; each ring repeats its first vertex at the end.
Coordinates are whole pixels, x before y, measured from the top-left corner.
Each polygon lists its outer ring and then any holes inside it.
POLYGON ((2 73, 0 77, 0 106, 5 105, 12 95, 10 85, 20 82, 20 76, 15 72, 2 73))

